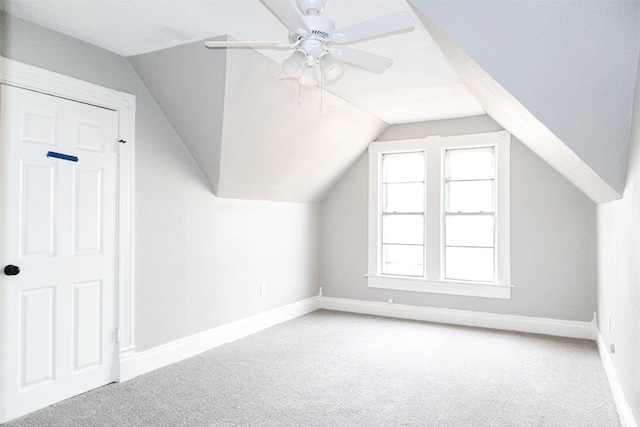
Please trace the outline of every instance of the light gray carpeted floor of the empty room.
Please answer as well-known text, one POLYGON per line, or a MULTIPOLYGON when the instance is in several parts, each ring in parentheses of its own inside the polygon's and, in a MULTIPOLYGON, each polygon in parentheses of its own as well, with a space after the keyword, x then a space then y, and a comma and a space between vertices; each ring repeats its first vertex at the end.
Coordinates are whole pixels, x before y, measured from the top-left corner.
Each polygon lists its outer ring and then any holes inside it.
POLYGON ((596 345, 317 311, 6 426, 619 426, 596 345))

